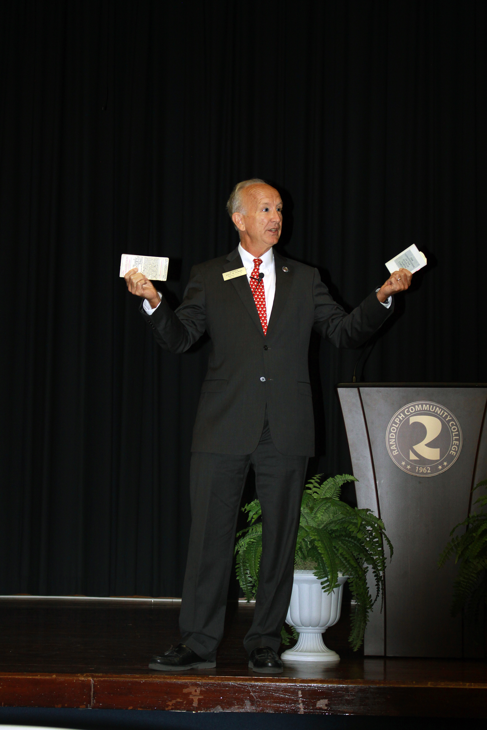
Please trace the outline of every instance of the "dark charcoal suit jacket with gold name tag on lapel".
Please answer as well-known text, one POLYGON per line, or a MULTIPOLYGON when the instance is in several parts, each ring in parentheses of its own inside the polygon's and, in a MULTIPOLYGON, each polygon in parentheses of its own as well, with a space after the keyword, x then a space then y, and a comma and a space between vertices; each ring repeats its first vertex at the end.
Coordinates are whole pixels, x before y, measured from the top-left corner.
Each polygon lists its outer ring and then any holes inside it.
POLYGON ((212 347, 191 450, 248 454, 256 449, 267 407, 280 453, 312 456, 314 420, 308 346, 315 329, 337 347, 363 344, 391 314, 375 291, 349 315, 329 295, 317 269, 275 256, 275 299, 264 336, 247 277, 223 280, 242 267, 238 248, 193 266, 183 303, 164 300, 144 318, 164 350, 183 353, 205 330, 212 347), (285 272, 283 267, 287 267, 285 272))

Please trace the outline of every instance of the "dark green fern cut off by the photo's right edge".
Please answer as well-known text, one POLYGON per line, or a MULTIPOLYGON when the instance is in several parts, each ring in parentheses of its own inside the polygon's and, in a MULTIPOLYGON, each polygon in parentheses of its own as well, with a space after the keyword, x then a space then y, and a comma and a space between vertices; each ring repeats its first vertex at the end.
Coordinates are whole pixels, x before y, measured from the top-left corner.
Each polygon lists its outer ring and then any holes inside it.
MULTIPOLYGON (((472 492, 486 485, 487 479, 484 479, 472 492)), ((455 562, 460 566, 453 582, 451 615, 459 615, 465 608, 467 616, 477 621, 480 608, 487 605, 487 494, 479 497, 475 504, 481 507, 480 512, 469 515, 453 528, 452 539, 443 550, 438 567, 455 555, 455 562), (453 537, 461 527, 465 528, 464 533, 453 537)))

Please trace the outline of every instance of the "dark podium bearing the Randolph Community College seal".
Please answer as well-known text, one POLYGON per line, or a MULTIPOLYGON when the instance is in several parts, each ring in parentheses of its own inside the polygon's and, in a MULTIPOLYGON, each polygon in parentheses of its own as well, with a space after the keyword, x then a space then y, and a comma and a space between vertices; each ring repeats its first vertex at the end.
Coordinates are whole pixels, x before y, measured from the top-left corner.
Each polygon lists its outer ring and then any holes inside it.
POLYGON ((482 656, 474 629, 450 616, 454 560, 441 570, 437 561, 469 514, 472 485, 487 478, 487 384, 340 383, 337 391, 358 507, 382 518, 394 545, 366 655, 482 656))

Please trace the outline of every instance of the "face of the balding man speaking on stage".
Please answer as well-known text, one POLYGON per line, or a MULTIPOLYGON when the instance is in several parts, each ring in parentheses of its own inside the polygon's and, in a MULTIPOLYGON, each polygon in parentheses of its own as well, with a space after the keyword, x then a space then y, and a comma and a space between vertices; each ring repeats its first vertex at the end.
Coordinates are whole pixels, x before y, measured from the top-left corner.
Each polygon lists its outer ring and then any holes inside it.
MULTIPOLYGON (((249 185, 242 191, 245 213, 234 213, 255 244, 267 248, 279 240, 283 227, 283 201, 270 185, 249 185)), ((240 227, 240 226, 239 226, 240 227)))

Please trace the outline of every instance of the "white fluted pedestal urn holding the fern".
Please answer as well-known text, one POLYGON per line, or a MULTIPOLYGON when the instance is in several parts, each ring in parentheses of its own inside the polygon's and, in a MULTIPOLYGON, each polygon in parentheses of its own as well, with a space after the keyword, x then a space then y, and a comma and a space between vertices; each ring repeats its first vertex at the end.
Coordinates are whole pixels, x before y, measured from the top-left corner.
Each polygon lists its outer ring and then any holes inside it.
POLYGON ((340 618, 345 580, 346 577, 340 576, 338 578, 340 587, 334 588, 331 593, 325 593, 312 570, 294 571, 293 592, 285 621, 289 626, 294 626, 299 639, 296 646, 281 654, 283 662, 295 664, 296 661, 312 661, 316 664, 337 664, 340 661, 337 652, 325 646, 321 634, 340 618))

